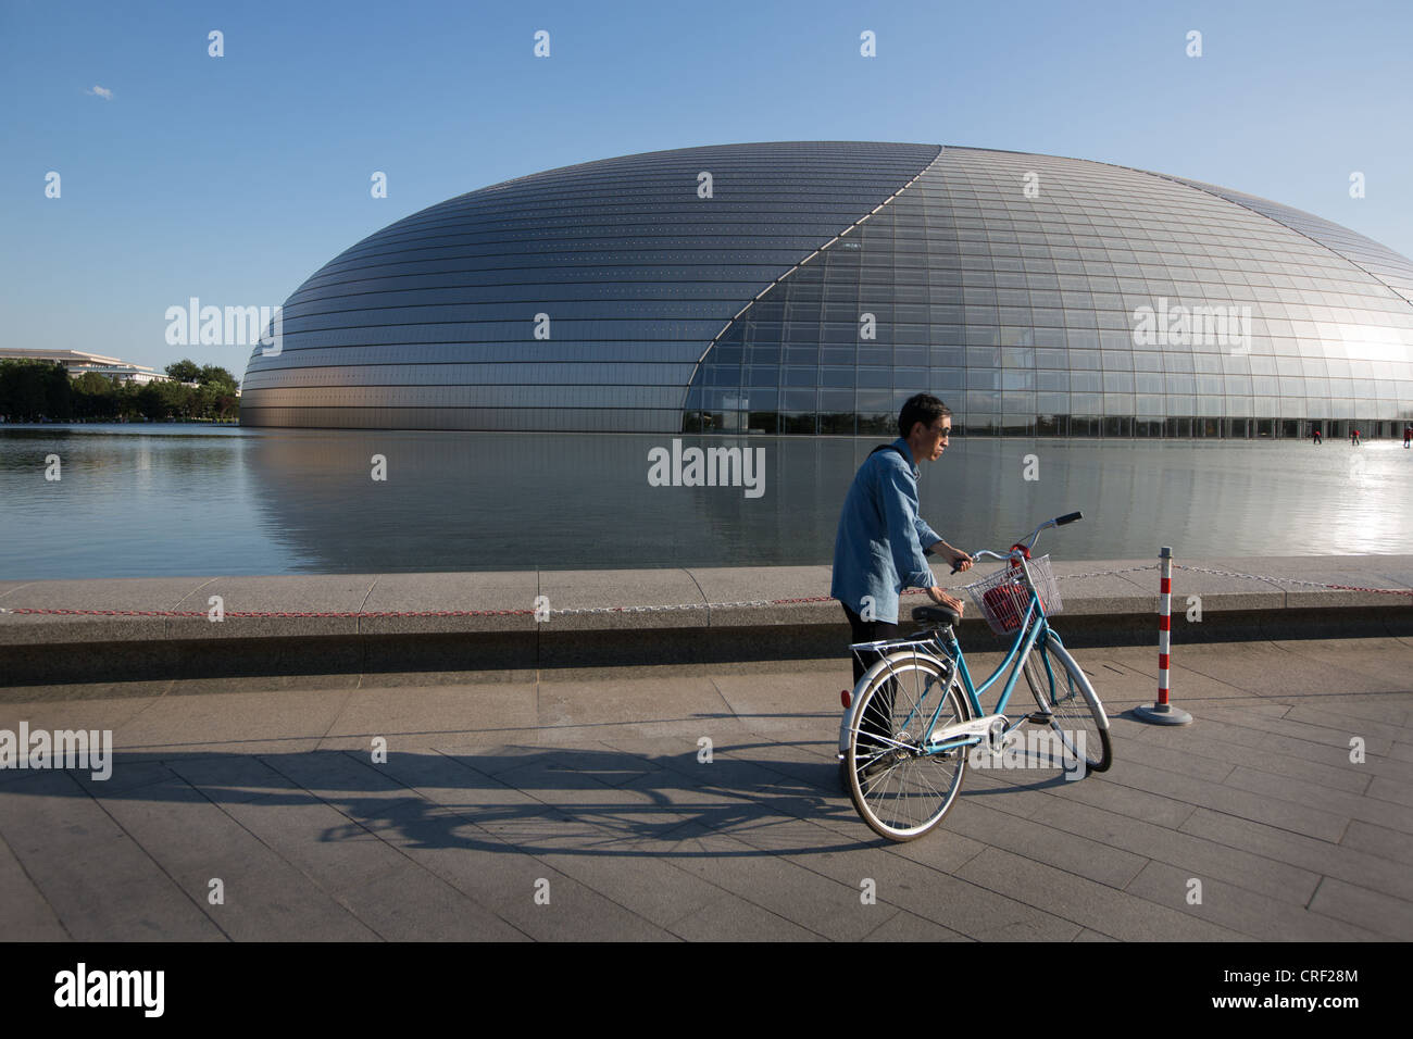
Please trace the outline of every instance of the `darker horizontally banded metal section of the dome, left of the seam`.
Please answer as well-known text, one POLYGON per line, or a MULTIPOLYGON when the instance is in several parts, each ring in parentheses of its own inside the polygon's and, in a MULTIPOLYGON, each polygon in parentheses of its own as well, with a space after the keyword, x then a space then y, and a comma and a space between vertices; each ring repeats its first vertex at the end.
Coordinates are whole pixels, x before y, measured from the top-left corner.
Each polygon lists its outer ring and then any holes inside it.
POLYGON ((684 148, 449 199, 357 243, 290 297, 281 353, 252 353, 242 421, 677 430, 712 336, 937 154, 846 141, 684 148), (698 194, 702 171, 711 198, 698 194))

